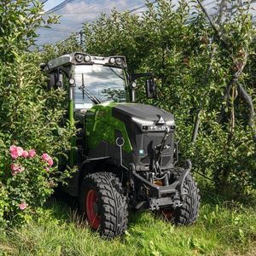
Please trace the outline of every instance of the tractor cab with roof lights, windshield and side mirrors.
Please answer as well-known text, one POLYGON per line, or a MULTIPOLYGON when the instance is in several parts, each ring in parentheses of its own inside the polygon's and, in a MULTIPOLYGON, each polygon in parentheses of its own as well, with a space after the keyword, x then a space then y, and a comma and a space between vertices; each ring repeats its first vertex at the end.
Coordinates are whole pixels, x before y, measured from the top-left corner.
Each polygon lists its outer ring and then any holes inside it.
POLYGON ((147 77, 148 98, 155 96, 152 73, 127 73, 125 56, 92 56, 80 52, 62 55, 44 66, 49 89, 69 92, 69 119, 80 119, 88 109, 107 102, 135 102, 135 80, 147 77))

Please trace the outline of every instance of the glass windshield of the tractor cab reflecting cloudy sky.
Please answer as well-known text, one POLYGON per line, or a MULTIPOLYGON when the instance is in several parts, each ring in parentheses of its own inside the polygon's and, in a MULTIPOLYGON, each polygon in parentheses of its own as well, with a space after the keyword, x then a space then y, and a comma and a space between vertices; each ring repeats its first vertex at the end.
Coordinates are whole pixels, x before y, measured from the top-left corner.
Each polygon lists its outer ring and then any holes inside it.
POLYGON ((74 108, 91 108, 91 96, 100 102, 125 102, 125 77, 122 68, 102 65, 78 65, 74 67, 74 108), (84 84, 83 84, 84 82, 84 84), (90 96, 83 93, 87 90, 90 96))

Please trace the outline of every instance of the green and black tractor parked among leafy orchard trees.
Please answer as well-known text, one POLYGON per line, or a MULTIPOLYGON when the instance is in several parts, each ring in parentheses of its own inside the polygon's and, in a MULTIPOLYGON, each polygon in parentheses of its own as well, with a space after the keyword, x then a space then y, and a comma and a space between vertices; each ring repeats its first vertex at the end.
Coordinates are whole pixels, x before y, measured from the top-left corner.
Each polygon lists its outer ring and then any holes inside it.
POLYGON ((78 148, 69 164, 79 166, 67 192, 91 229, 120 236, 128 209, 151 210, 177 225, 193 224, 200 207, 191 162, 177 167, 172 113, 135 103, 136 79, 144 77, 148 98, 156 96, 152 73, 128 74, 124 56, 80 52, 44 66, 51 90, 67 90, 68 116, 77 125, 78 148))

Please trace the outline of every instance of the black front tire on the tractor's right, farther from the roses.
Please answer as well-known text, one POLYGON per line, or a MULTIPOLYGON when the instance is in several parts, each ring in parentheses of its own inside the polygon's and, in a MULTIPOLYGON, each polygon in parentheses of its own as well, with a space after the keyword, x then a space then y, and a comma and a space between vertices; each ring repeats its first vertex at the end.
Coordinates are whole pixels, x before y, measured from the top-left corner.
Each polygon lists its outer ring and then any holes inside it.
MULTIPOLYGON (((183 169, 179 168, 173 172, 173 179, 177 179, 183 173, 183 169)), ((162 211, 163 215, 172 220, 177 225, 194 224, 199 215, 200 200, 199 189, 195 183, 194 178, 189 173, 184 181, 184 195, 183 205, 175 209, 168 209, 162 211)))

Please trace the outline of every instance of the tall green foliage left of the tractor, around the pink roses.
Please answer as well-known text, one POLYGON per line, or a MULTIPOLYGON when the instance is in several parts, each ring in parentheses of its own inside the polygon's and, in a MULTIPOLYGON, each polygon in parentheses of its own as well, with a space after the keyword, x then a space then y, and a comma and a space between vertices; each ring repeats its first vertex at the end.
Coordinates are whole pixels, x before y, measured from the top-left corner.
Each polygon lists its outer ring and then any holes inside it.
POLYGON ((75 130, 63 121, 67 93, 47 90, 39 67, 42 58, 29 53, 37 36, 35 29, 54 18, 43 19, 38 1, 3 1, 0 12, 0 223, 10 224, 29 220, 52 188, 70 175, 71 171, 58 172, 57 166, 58 157, 71 148, 75 130), (12 161, 11 145, 34 148, 38 155, 12 161), (46 152, 54 159, 50 172, 40 159, 46 152), (12 164, 24 171, 13 176, 12 164), (23 210, 21 203, 26 203, 23 210))

